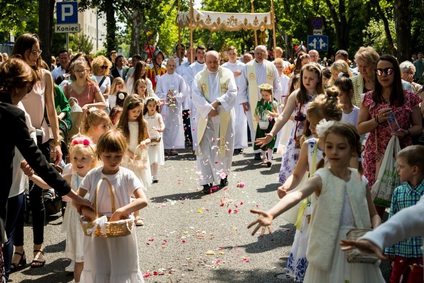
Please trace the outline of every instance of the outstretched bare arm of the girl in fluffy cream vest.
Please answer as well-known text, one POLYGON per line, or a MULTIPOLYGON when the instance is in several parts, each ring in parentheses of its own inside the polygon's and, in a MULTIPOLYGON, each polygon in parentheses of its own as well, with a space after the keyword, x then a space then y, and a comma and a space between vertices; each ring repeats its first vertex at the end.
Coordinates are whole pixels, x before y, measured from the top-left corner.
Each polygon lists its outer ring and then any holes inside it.
POLYGON ((255 224, 258 224, 255 229, 252 232, 252 236, 255 235, 255 233, 259 230, 259 228, 262 227, 261 231, 261 237, 265 235, 265 228, 268 227, 269 233, 272 233, 271 231, 271 223, 272 220, 275 219, 277 216, 279 216, 281 213, 289 210, 296 204, 298 204, 301 200, 306 198, 307 196, 310 196, 314 192, 319 192, 322 187, 321 178, 319 176, 314 176, 308 179, 306 181, 305 185, 295 191, 288 193, 286 197, 282 198, 274 207, 272 207, 268 211, 262 211, 262 210, 256 210, 251 209, 251 213, 259 214, 258 218, 256 218, 255 221, 249 224, 247 228, 252 227, 255 224))

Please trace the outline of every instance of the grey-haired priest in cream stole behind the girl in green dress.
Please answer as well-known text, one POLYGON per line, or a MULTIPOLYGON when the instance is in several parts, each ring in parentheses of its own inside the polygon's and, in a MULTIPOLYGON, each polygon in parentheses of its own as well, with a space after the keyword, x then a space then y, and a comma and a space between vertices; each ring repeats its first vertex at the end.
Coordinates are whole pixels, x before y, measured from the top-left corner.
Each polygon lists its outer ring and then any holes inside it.
MULTIPOLYGON (((266 54, 265 46, 256 46, 255 59, 248 62, 244 67, 238 88, 238 103, 242 104, 246 111, 252 145, 255 141, 256 126, 259 122, 256 121, 254 110, 256 103, 262 98, 258 85, 265 83, 272 85, 274 97, 281 97, 280 76, 274 64, 265 60, 266 54)), ((261 150, 258 149, 254 152, 255 160, 261 160, 261 150)))

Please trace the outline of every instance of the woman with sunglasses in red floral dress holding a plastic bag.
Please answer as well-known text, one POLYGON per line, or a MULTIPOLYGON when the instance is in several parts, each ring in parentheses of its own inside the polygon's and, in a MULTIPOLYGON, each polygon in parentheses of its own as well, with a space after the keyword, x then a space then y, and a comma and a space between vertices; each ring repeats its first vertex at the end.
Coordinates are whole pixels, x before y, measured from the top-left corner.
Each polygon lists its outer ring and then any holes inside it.
MULTIPOLYGON (((399 138, 401 148, 412 145, 411 136, 421 133, 421 98, 412 91, 404 91, 401 81, 401 69, 395 57, 382 55, 377 61, 375 87, 365 93, 359 109, 358 133, 369 133, 365 144, 364 175, 372 188, 375 182, 377 155, 383 155, 392 135, 399 138), (392 131, 388 119, 394 114, 399 130, 392 131), (377 146, 377 150, 376 150, 377 146)), ((377 206, 380 217, 385 208, 377 206)))

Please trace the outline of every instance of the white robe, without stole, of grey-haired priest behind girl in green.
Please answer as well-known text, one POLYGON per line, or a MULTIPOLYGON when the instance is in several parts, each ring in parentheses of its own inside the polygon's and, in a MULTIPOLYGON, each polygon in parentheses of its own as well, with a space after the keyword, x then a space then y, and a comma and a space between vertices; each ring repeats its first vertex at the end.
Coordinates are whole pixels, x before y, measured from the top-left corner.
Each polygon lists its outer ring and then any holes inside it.
MULTIPOLYGON (((274 87, 274 97, 281 97, 281 85, 280 85, 280 76, 278 75, 277 68, 274 67, 274 80, 273 80, 273 87, 274 87)), ((266 67, 265 64, 257 63, 255 61, 255 70, 256 70, 256 85, 266 84, 266 67)), ((258 88, 258 100, 257 101, 249 101, 249 81, 247 78, 247 68, 246 66, 243 68, 243 72, 241 74, 240 84, 238 86, 238 96, 237 101, 239 104, 243 104, 245 102, 249 103, 249 110, 246 111, 246 117, 247 117, 247 124, 249 125, 250 129, 250 138, 252 140, 252 144, 255 141, 255 135, 256 132, 253 130, 253 120, 252 120, 252 114, 251 112, 255 110, 256 104, 259 100, 261 100, 261 91, 258 88)), ((258 149, 254 151, 255 153, 262 152, 262 150, 258 149)))

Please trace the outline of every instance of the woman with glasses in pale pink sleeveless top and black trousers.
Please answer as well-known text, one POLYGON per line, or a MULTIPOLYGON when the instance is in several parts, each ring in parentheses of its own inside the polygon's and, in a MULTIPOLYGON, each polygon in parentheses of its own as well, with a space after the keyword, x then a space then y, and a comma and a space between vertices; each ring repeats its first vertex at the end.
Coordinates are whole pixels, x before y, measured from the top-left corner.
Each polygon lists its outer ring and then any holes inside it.
MULTIPOLYGON (((60 147, 59 123, 54 105, 53 79, 50 72, 42 67, 40 50, 40 40, 36 34, 24 33, 19 36, 13 46, 11 56, 19 55, 36 74, 35 84, 31 91, 22 99, 22 104, 31 118, 31 124, 38 131, 37 145, 43 152, 47 160, 50 160, 50 134, 46 119, 44 119, 44 108, 47 111, 47 117, 50 121, 50 127, 53 134, 55 147, 53 148, 55 164, 62 160, 62 150, 60 147)), ((45 209, 43 198, 41 197, 43 189, 34 185, 29 191, 29 201, 32 210, 32 228, 34 236, 34 260, 31 267, 42 267, 45 264, 42 245, 44 242, 44 220, 45 209)), ((23 235, 16 235, 16 238, 22 238, 23 235)))

